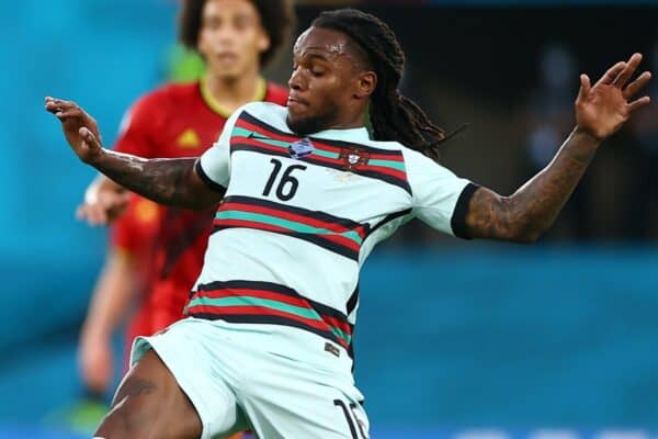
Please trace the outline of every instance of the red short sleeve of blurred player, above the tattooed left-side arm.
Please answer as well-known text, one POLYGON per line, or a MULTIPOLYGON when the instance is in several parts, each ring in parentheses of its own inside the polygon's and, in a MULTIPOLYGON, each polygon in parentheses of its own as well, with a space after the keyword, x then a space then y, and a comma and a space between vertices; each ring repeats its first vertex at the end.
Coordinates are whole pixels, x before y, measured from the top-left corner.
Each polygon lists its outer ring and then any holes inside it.
POLYGON ((135 102, 124 114, 114 149, 145 158, 154 158, 158 150, 154 140, 160 114, 158 94, 147 94, 135 102))

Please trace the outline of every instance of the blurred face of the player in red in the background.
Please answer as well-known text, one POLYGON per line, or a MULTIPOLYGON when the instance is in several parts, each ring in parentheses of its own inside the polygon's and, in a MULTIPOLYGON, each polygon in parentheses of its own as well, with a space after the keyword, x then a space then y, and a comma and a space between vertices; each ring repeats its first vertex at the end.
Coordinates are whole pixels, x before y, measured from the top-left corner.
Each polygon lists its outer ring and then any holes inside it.
POLYGON ((201 20, 198 52, 211 75, 235 79, 260 69, 260 54, 270 40, 251 1, 207 0, 201 20))

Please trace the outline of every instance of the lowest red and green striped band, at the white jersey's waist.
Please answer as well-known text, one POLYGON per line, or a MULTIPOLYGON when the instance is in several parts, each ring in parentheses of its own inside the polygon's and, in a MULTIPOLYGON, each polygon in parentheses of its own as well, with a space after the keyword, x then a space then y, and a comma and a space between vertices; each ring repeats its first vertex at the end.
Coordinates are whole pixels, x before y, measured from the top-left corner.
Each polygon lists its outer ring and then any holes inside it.
POLYGON ((354 326, 343 313, 276 283, 227 281, 201 284, 185 309, 189 316, 196 318, 292 326, 351 351, 354 326))

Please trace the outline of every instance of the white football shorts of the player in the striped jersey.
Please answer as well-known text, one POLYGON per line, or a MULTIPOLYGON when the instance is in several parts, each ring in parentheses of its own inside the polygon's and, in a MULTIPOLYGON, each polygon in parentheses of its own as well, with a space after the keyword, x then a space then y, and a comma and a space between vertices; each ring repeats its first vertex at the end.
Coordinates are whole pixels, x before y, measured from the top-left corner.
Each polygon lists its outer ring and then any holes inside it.
POLYGON ((154 349, 194 405, 202 439, 367 439, 348 352, 303 329, 188 317, 133 344, 154 349))

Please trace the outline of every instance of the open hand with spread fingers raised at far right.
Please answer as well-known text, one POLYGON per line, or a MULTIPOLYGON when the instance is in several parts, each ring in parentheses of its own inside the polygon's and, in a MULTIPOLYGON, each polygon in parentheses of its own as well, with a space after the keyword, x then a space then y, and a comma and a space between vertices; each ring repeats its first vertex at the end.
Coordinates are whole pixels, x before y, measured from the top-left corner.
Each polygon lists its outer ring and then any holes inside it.
POLYGON ((628 61, 615 64, 593 87, 587 75, 580 76, 576 99, 576 122, 580 131, 603 140, 621 128, 631 114, 650 102, 647 95, 632 100, 651 79, 651 74, 645 71, 628 82, 640 61, 642 55, 634 54, 628 61))

